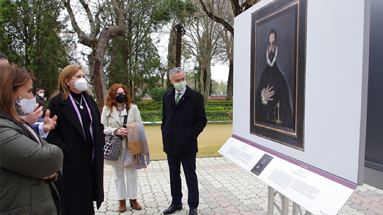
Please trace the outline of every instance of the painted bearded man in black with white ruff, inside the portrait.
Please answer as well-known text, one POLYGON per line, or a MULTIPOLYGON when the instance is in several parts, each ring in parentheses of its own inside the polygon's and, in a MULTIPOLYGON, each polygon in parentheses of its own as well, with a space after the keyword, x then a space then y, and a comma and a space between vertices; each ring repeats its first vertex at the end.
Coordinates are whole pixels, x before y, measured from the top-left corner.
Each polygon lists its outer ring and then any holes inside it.
POLYGON ((277 66, 277 32, 272 29, 267 40, 267 66, 262 71, 256 92, 257 121, 293 128, 289 88, 277 66))

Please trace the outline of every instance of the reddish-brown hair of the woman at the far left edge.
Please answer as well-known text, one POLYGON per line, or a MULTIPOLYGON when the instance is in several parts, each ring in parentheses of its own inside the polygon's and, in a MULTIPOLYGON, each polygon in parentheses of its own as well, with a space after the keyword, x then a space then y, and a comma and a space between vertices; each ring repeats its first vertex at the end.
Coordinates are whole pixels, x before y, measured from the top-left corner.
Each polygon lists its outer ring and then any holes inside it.
POLYGON ((13 106, 13 93, 18 87, 29 80, 34 80, 32 74, 15 65, 0 65, 0 111, 11 116, 19 123, 24 123, 13 106))

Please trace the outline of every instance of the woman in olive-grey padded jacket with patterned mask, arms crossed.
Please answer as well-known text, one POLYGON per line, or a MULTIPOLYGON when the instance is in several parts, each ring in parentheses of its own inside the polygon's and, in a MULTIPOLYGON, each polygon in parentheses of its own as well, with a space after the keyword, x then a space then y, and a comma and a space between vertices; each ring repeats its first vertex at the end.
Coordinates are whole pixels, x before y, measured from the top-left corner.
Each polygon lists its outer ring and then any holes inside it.
POLYGON ((53 184, 61 177, 63 152, 40 138, 23 121, 23 110, 35 107, 32 77, 16 65, 0 65, 0 214, 60 214, 53 184))

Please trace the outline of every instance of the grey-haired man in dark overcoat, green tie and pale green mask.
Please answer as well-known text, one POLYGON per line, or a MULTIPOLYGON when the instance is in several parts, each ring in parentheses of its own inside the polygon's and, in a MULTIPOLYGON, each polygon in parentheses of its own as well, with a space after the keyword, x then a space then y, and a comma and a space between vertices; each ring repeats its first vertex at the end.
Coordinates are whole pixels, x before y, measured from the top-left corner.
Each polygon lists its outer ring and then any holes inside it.
POLYGON ((162 142, 170 172, 171 205, 164 214, 182 209, 181 164, 188 190, 189 215, 197 214, 199 204, 196 174, 197 137, 206 126, 206 113, 200 92, 186 86, 185 73, 180 67, 169 71, 169 81, 175 86, 163 95, 162 142))

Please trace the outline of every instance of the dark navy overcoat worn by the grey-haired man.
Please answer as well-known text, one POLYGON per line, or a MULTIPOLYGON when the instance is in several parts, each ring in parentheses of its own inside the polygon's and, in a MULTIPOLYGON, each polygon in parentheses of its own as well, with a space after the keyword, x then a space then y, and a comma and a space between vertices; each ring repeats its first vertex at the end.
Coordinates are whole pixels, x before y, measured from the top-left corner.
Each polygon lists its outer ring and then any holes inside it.
POLYGON ((176 105, 175 89, 162 98, 162 142, 168 155, 191 155, 198 152, 197 137, 206 126, 202 94, 186 86, 176 105))

